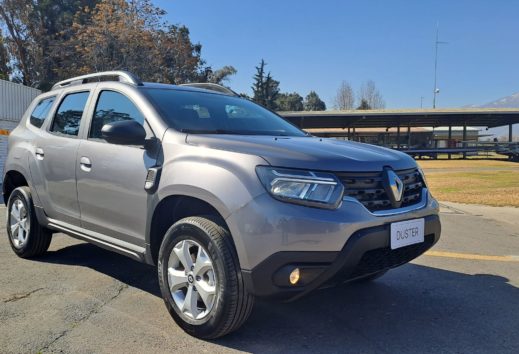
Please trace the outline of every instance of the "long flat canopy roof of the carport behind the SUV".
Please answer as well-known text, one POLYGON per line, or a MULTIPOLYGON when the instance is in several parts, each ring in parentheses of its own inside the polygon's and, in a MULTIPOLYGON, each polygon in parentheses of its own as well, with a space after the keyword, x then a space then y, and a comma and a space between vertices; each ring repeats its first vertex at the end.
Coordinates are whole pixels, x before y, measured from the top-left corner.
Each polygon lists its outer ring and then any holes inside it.
POLYGON ((384 109, 278 112, 299 128, 391 128, 473 126, 519 123, 519 108, 384 109))

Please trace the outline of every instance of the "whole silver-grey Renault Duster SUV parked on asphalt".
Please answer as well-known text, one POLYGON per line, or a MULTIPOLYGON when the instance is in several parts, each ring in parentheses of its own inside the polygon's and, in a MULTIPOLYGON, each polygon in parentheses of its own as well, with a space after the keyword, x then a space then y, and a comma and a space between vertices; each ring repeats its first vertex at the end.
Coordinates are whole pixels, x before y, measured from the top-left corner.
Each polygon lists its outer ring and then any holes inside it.
POLYGON ((412 158, 313 137, 211 84, 59 82, 11 133, 5 166, 18 256, 63 232, 154 264, 171 316, 200 338, 239 328, 255 297, 372 280, 440 237, 412 158))

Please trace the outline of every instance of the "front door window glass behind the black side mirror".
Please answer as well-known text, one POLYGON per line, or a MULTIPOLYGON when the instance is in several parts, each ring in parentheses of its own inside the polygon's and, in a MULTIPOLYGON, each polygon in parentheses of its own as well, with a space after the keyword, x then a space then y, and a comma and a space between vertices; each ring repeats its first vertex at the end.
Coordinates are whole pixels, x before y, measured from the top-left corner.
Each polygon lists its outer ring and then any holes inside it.
POLYGON ((144 126, 144 116, 129 98, 114 91, 101 91, 88 137, 102 139, 103 125, 132 119, 144 126))

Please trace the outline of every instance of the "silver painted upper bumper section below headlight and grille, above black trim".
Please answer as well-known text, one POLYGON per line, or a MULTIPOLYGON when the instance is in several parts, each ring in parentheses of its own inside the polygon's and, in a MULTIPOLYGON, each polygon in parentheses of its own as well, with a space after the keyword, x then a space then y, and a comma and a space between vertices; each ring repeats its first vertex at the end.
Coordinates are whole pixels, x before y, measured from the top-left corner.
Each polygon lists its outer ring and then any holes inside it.
POLYGON ((438 212, 438 202, 428 193, 414 209, 375 215, 351 198, 328 210, 281 202, 265 192, 232 212, 226 222, 241 269, 251 271, 278 252, 337 253, 357 231, 438 212))

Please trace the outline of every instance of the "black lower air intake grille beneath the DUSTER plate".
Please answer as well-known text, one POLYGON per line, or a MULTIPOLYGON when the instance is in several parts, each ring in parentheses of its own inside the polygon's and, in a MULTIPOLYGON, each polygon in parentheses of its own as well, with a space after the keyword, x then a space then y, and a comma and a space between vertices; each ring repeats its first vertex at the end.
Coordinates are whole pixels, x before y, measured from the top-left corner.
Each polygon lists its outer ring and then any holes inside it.
MULTIPOLYGON (((427 251, 434 244, 434 235, 426 235, 424 242, 392 250, 378 248, 364 253, 355 270, 347 275, 347 279, 373 274, 384 269, 397 267, 407 263, 427 251)), ((344 279, 344 280, 347 280, 344 279)))

